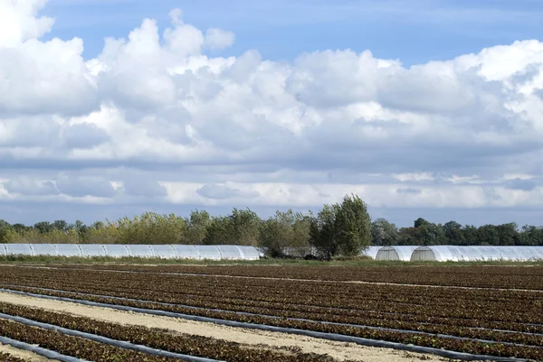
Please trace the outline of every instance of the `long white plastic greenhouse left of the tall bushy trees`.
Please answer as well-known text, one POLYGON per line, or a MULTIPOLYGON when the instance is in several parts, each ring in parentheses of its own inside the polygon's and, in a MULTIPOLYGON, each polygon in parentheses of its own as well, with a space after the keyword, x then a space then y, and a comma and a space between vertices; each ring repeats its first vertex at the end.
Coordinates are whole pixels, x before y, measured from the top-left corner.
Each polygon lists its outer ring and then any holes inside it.
POLYGON ((258 260, 254 246, 0 244, 0 255, 135 256, 163 259, 258 260))

